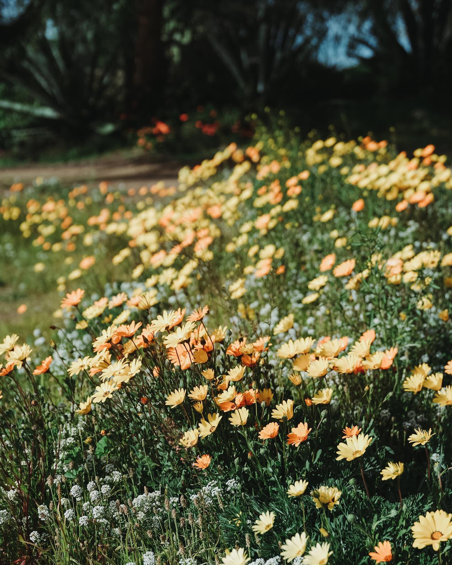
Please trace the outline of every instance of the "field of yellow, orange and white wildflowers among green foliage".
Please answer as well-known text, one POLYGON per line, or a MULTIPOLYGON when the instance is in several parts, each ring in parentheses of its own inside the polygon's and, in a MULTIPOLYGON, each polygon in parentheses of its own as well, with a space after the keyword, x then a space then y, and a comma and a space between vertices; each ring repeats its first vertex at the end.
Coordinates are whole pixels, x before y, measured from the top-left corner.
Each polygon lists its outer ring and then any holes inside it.
POLYGON ((257 128, 179 181, 1 195, 0 562, 452 563, 446 158, 257 128))

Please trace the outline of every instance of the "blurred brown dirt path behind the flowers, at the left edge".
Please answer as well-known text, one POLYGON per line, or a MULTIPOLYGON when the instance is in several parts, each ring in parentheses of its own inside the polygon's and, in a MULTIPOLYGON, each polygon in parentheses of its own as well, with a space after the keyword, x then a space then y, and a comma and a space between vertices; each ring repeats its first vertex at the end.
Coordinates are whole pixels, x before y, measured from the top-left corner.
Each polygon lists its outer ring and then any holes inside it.
POLYGON ((107 181, 111 184, 124 184, 125 188, 150 186, 163 180, 167 186, 177 183, 177 173, 183 164, 176 161, 151 162, 148 155, 131 151, 109 153, 95 159, 76 162, 24 164, 18 167, 0 169, 0 188, 9 188, 13 182, 33 182, 58 178, 67 184, 97 184, 107 181))

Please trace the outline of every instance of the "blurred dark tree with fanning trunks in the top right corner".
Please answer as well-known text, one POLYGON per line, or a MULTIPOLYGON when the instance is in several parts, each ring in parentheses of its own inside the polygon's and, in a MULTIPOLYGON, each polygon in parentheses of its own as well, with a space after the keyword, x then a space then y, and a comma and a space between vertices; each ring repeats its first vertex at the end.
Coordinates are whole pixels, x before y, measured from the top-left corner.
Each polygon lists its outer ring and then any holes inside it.
POLYGON ((452 0, 357 0, 351 6, 360 26, 350 54, 381 77, 384 88, 444 84, 452 60, 452 0))

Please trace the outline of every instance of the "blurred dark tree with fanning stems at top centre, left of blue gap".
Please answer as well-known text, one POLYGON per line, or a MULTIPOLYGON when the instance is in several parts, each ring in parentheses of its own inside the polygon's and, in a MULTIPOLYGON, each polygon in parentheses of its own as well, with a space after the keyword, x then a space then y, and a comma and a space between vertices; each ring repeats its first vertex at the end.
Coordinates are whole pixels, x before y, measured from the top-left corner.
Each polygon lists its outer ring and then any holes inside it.
POLYGON ((205 38, 246 105, 290 88, 325 36, 324 8, 330 4, 191 0, 175 17, 185 25, 190 22, 194 37, 205 38))

